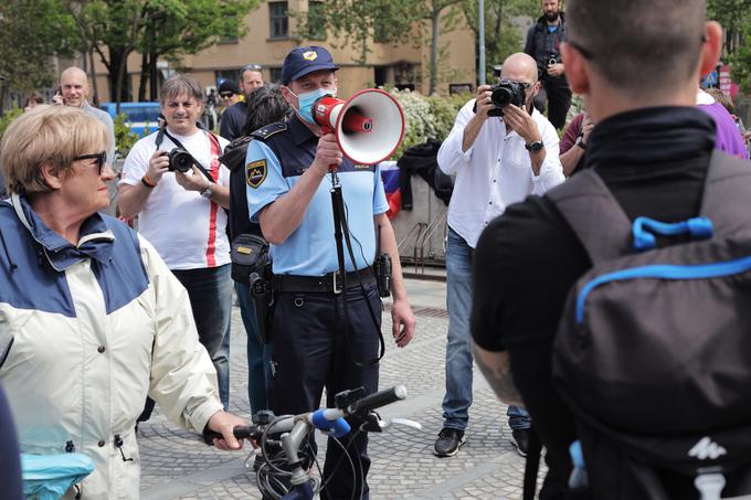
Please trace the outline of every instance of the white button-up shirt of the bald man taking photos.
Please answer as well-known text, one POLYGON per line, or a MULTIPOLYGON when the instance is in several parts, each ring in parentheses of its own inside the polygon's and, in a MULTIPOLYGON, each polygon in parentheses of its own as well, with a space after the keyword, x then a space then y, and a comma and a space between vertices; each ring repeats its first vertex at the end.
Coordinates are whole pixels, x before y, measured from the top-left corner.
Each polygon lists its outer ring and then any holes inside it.
POLYGON ((474 145, 463 152, 464 128, 475 115, 474 105, 472 99, 459 110, 437 158, 441 170, 456 173, 448 225, 473 248, 485 226, 508 205, 523 201, 529 194, 541 195, 565 179, 558 158, 558 132, 537 109, 532 111, 532 119, 546 153, 539 175, 532 172, 525 139, 516 131, 506 135, 501 117, 489 117, 474 145))

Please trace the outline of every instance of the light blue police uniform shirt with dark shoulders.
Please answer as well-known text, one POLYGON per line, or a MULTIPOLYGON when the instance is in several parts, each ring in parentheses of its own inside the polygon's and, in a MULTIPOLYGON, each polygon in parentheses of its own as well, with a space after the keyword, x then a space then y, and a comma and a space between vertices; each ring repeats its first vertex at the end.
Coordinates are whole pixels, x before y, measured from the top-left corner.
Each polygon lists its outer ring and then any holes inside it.
MULTIPOLYGON (((318 137, 297 116, 288 124, 264 127, 254 136, 261 140, 247 147, 245 177, 248 213, 253 222, 258 222, 258 212, 286 194, 310 167, 318 137)), ((372 264, 376 255, 373 215, 389 209, 380 169, 345 158, 337 171, 352 253, 357 268, 362 269, 372 264)), ((326 174, 297 230, 282 245, 271 246, 274 274, 322 276, 339 268, 330 190, 331 177, 326 174)), ((345 263, 348 272, 355 270, 346 244, 345 263)))

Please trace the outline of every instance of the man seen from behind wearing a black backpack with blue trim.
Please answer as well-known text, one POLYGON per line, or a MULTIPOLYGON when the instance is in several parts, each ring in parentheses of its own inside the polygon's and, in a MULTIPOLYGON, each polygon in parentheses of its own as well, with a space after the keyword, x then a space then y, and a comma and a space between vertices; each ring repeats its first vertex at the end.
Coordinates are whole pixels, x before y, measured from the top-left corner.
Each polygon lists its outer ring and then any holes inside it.
POLYGON ((567 6, 586 169, 480 236, 475 359, 532 416, 543 500, 749 493, 751 166, 712 152, 695 107, 722 30, 704 0, 567 6))

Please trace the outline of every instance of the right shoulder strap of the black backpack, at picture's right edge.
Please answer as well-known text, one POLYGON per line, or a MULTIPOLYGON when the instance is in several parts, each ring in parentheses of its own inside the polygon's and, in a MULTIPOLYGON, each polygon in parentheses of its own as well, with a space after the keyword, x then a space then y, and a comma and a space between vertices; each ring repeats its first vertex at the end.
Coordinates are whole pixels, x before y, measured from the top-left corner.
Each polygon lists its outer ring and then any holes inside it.
POLYGON ((712 152, 700 213, 712 221, 716 235, 751 232, 751 163, 748 160, 712 152))

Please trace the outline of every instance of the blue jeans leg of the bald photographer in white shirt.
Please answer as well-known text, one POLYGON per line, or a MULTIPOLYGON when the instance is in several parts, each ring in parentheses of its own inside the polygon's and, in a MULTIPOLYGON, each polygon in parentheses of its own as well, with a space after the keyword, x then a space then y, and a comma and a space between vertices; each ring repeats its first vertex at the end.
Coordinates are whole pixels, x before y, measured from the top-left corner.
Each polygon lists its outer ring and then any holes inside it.
POLYGON ((464 430, 472 405, 472 253, 474 249, 448 227, 446 244, 446 394, 443 397, 444 427, 464 430))

